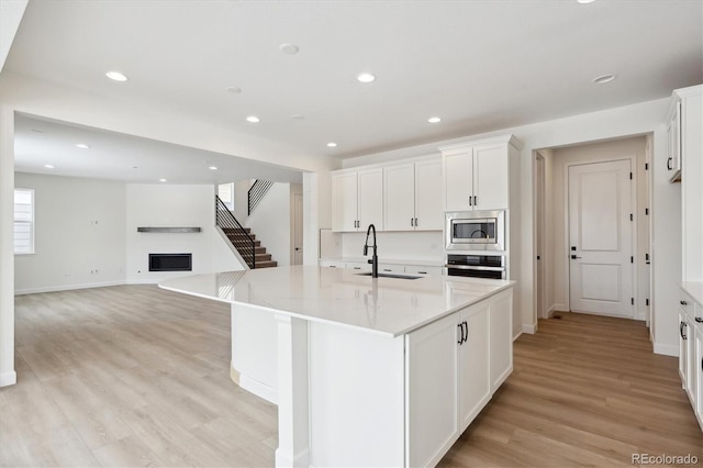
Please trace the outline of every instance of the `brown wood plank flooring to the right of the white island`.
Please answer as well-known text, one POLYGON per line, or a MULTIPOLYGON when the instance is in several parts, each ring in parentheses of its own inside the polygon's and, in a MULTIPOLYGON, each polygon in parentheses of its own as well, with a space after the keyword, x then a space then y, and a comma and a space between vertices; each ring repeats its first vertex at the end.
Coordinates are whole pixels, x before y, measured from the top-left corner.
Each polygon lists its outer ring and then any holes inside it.
POLYGON ((513 374, 440 466, 616 467, 632 454, 703 465, 678 360, 652 354, 644 322, 559 315, 515 342, 513 374))

